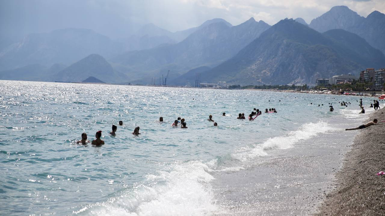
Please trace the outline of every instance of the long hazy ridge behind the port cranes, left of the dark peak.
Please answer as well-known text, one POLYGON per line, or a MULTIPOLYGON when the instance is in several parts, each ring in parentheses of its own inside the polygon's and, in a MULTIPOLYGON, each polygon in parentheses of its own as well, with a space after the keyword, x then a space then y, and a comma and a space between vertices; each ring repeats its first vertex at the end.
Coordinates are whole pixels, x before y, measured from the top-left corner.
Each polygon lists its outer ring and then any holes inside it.
MULTIPOLYGON (((111 58, 115 65, 137 73, 138 83, 148 83, 153 76, 172 71, 172 75, 186 73, 199 66, 216 66, 231 58, 270 26, 253 18, 231 27, 229 23, 214 22, 201 27, 185 40, 149 50, 127 52, 111 58)), ((133 80, 133 78, 132 78, 133 80)), ((129 80, 131 81, 131 80, 129 80)))

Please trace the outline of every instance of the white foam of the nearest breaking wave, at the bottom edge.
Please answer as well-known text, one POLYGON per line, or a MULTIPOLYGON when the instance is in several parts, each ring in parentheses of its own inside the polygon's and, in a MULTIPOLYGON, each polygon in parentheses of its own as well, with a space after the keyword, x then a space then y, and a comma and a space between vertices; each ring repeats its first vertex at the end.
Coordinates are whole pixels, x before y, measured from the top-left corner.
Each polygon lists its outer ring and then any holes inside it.
POLYGON ((75 214, 172 216, 203 215, 217 209, 209 181, 208 166, 199 162, 176 162, 170 171, 147 176, 147 185, 136 184, 104 203, 84 206, 75 214))

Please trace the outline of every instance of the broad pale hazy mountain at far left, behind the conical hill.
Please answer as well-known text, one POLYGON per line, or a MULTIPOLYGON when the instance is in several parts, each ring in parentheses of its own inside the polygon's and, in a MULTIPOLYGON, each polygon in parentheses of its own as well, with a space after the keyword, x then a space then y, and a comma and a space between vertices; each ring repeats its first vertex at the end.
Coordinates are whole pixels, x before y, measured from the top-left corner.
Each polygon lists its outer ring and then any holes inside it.
POLYGON ((122 46, 92 30, 67 28, 50 33, 30 34, 0 53, 0 70, 25 65, 72 64, 92 53, 112 56, 122 46))

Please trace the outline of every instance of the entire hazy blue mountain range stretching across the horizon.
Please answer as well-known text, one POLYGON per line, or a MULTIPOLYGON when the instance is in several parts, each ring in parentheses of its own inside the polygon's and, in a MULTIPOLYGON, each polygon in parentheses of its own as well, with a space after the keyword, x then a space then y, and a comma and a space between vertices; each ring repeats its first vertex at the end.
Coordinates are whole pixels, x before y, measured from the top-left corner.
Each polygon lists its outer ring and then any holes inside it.
POLYGON ((194 85, 198 74, 201 82, 310 84, 385 67, 383 35, 384 14, 364 18, 346 6, 310 24, 296 18, 271 27, 250 18, 233 26, 218 18, 169 32, 150 23, 120 40, 67 28, 30 34, 0 50, 0 79, 81 82, 94 76, 107 83, 150 84, 170 71, 168 85, 194 85))

